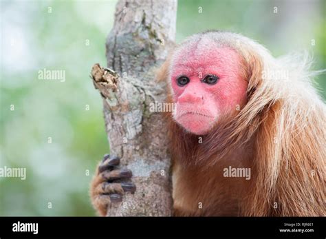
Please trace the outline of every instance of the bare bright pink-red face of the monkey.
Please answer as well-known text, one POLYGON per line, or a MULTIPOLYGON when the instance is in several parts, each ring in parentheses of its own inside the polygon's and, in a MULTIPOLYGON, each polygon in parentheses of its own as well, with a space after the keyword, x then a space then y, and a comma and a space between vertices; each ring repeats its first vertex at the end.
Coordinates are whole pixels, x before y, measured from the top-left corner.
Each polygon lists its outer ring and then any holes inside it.
POLYGON ((202 39, 174 56, 171 86, 177 123, 193 134, 207 134, 221 116, 246 103, 248 83, 235 50, 202 39))

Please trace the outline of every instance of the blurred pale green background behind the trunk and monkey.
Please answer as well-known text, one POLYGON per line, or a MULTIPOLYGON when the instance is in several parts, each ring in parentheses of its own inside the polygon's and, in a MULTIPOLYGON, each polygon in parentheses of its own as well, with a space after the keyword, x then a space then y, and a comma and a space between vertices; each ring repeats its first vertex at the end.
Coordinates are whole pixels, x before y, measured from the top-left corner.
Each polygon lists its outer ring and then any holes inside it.
MULTIPOLYGON (((0 167, 26 167, 27 179, 0 178, 0 216, 95 215, 89 182, 109 146, 89 72, 106 65, 115 5, 1 0, 0 167), (65 70, 65 82, 38 79, 44 68, 65 70)), ((274 56, 307 50, 325 69, 325 15, 325 1, 181 0, 176 39, 230 30, 274 56)), ((325 74, 316 80, 326 98, 325 74)))

